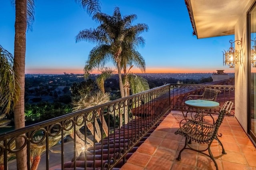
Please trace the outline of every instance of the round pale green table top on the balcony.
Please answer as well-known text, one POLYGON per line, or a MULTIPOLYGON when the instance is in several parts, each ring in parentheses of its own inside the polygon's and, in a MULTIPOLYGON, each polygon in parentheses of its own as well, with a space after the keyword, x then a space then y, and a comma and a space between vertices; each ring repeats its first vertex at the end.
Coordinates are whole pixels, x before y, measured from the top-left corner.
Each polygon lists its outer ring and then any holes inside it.
POLYGON ((214 109, 220 106, 220 103, 210 100, 187 100, 185 104, 198 109, 214 109))

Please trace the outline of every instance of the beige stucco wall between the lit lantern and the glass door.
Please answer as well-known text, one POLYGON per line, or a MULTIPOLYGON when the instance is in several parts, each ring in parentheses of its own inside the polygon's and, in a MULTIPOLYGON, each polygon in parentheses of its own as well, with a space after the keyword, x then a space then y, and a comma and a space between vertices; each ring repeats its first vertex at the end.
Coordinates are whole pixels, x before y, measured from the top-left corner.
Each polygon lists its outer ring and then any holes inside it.
MULTIPOLYGON (((235 40, 242 38, 242 55, 241 63, 235 66, 235 116, 241 126, 247 132, 247 30, 246 30, 246 13, 254 0, 250 0, 248 6, 244 9, 235 26, 235 40)), ((236 49, 240 45, 235 45, 236 49)), ((250 65, 249 65, 250 67, 250 65)))

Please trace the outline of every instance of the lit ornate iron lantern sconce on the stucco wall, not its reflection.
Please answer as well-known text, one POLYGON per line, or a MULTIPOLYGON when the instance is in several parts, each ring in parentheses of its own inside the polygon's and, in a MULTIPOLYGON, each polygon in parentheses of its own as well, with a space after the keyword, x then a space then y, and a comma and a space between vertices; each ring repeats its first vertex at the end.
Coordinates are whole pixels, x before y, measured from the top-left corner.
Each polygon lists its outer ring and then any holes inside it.
POLYGON ((241 49, 238 51, 233 47, 233 43, 237 42, 237 45, 242 45, 242 40, 236 40, 234 42, 232 42, 232 40, 229 41, 230 48, 228 49, 228 51, 225 51, 225 53, 222 51, 223 53, 223 65, 225 63, 225 65, 228 65, 230 68, 234 68, 234 65, 236 65, 238 62, 240 62, 240 58, 241 58, 241 49))

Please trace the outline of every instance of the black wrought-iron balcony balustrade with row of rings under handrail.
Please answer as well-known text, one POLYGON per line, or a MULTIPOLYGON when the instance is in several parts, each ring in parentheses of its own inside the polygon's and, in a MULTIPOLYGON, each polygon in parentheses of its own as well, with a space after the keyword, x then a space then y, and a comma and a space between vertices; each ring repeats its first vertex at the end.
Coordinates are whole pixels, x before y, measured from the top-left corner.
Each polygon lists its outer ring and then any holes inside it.
POLYGON ((0 169, 16 169, 15 153, 22 149, 32 169, 38 148, 38 169, 120 168, 170 109, 186 109, 186 97, 199 95, 205 87, 221 91, 218 102, 234 97, 234 86, 168 84, 1 134, 0 169), (24 145, 15 148, 15 140, 24 145))

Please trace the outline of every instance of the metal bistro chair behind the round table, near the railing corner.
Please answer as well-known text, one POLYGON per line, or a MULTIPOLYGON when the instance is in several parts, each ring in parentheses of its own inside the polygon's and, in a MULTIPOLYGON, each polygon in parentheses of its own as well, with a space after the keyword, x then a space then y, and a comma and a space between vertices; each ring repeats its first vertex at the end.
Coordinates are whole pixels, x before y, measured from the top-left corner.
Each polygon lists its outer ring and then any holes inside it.
MULTIPOLYGON (((211 88, 205 88, 204 89, 204 92, 202 95, 188 95, 187 97, 187 100, 195 100, 195 99, 198 99, 198 100, 211 100, 211 101, 216 101, 217 100, 217 97, 218 97, 218 94, 220 93, 219 90, 216 90, 216 89, 211 89, 211 88)), ((187 115, 188 115, 188 112, 193 112, 194 109, 189 107, 188 108, 188 111, 186 112, 186 116, 185 118, 187 118, 187 115)))

